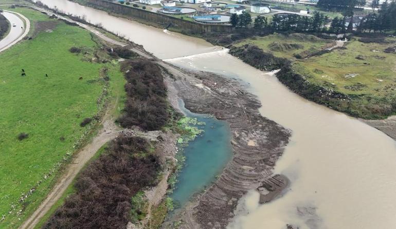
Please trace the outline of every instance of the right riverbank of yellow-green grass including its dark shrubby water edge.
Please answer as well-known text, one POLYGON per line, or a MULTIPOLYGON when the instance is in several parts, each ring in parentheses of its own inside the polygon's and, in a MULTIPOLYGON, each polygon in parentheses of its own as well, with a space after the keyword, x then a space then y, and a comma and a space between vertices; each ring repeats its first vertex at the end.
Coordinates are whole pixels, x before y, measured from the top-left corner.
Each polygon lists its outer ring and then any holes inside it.
MULTIPOLYGON (((264 63, 264 59, 253 55, 242 57, 243 46, 257 46, 261 52, 273 54, 273 60, 291 60, 289 70, 284 68, 277 74, 282 83, 307 99, 351 116, 381 119, 394 114, 396 55, 385 50, 392 50, 396 39, 354 37, 344 47, 326 51, 328 44, 312 35, 273 34, 237 43, 235 47, 241 50, 231 53, 258 68, 262 68, 258 63, 264 63)), ((266 69, 273 69, 265 63, 266 69)))

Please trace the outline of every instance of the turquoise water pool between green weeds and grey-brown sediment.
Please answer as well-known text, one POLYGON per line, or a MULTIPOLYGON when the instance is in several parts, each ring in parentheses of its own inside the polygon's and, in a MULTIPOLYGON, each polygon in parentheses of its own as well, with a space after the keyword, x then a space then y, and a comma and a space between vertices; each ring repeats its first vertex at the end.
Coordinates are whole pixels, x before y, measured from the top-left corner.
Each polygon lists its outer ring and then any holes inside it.
POLYGON ((176 206, 184 206, 193 194, 204 190, 232 158, 229 125, 203 114, 192 113, 180 107, 185 116, 196 118, 205 125, 196 125, 204 132, 190 141, 183 152, 185 165, 177 175, 178 182, 170 197, 176 206))

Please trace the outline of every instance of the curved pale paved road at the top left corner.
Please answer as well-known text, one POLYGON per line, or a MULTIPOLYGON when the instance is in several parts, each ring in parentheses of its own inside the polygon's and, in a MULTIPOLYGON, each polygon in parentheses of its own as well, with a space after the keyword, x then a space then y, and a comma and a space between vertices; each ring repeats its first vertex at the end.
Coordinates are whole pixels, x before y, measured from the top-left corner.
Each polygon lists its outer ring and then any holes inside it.
POLYGON ((30 22, 23 15, 6 10, 3 12, 3 15, 11 23, 11 25, 15 23, 15 27, 11 26, 11 30, 7 36, 0 40, 0 52, 21 41, 23 37, 27 35, 30 29, 30 22), (26 26, 24 25, 24 21, 26 22, 26 26))

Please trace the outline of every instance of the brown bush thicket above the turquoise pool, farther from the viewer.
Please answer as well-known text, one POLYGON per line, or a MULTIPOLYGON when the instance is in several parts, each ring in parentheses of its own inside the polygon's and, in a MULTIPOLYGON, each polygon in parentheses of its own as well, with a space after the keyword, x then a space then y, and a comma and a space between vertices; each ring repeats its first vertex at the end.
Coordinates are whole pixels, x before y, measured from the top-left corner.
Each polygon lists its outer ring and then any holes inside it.
POLYGON ((125 128, 159 130, 169 118, 161 69, 145 59, 124 62, 121 68, 127 79, 127 102, 118 122, 125 128))

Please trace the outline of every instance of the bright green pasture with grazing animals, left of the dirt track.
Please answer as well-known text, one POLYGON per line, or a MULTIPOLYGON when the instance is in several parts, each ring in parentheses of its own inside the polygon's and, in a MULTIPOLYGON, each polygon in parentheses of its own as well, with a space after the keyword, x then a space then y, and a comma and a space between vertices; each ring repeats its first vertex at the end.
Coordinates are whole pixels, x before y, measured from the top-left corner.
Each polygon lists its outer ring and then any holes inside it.
POLYGON ((88 62, 99 46, 89 32, 27 8, 14 11, 29 18, 29 34, 34 35, 0 53, 0 218, 5 216, 0 228, 16 228, 34 211, 56 181, 57 163, 68 152, 73 155, 77 143, 87 141, 98 126, 81 127, 80 123, 103 107, 98 99, 105 88, 100 80, 104 65, 111 79, 106 98, 117 103, 114 116, 125 97, 125 82, 116 62, 88 62), (55 27, 43 27, 42 22, 55 27), (73 46, 84 47, 88 53, 70 53, 73 46), (22 69, 26 77, 21 77, 22 69), (18 140, 21 132, 28 133, 28 138, 18 140), (55 173, 45 180, 53 168, 55 173), (19 202, 38 181, 42 183, 32 195, 19 202), (16 208, 11 211, 12 203, 16 208))

